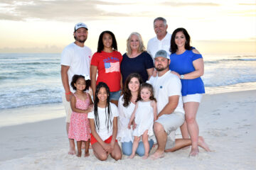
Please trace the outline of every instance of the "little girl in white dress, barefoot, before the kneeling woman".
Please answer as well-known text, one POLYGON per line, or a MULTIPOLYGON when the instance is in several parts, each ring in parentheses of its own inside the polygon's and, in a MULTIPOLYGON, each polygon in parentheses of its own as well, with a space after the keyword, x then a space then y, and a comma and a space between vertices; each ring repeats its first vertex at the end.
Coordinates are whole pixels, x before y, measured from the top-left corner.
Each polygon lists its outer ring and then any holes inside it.
POLYGON ((132 133, 132 135, 134 135, 134 142, 132 145, 132 154, 129 158, 134 158, 141 136, 145 147, 145 154, 142 158, 146 159, 149 157, 148 138, 154 135, 153 124, 154 120, 156 120, 156 112, 156 98, 154 98, 153 87, 151 84, 144 83, 139 89, 137 103, 128 124, 128 128, 130 129, 135 118, 136 128, 134 128, 132 133))

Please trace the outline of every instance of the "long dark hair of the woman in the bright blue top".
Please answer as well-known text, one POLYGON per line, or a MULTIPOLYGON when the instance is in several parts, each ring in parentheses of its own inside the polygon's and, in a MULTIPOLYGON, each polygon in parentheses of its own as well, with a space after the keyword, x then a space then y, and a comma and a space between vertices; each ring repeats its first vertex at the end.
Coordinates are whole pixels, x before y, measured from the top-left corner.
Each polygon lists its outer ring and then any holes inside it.
POLYGON ((171 47, 170 47, 171 54, 174 54, 178 49, 178 46, 175 43, 176 33, 178 33, 178 32, 182 32, 185 35, 185 38, 186 38, 185 49, 186 50, 192 49, 192 47, 190 45, 191 38, 188 35, 188 31, 185 28, 177 28, 176 30, 174 30, 174 33, 172 33, 172 35, 171 35, 171 47))

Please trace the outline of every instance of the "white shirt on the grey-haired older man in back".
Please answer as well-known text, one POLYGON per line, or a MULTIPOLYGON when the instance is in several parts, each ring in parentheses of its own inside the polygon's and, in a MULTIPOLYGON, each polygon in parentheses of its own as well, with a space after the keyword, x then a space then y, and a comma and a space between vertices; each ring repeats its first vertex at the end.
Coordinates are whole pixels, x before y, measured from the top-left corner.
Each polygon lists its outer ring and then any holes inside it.
POLYGON ((151 38, 146 47, 146 51, 149 52, 149 55, 151 55, 152 59, 154 60, 156 52, 158 52, 159 50, 166 50, 167 54, 170 55, 170 46, 171 34, 166 33, 166 36, 163 40, 159 40, 157 39, 157 37, 151 38))

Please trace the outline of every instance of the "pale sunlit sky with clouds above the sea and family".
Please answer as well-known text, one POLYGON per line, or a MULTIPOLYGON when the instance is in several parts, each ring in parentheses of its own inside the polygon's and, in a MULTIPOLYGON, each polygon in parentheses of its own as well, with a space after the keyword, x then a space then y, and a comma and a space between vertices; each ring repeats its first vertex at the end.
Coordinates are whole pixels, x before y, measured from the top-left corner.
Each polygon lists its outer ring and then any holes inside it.
POLYGON ((144 45, 155 36, 158 16, 169 33, 186 28, 201 53, 256 53, 255 0, 0 0, 0 52, 61 52, 83 22, 92 52, 100 33, 111 30, 124 53, 130 33, 141 33, 144 45))

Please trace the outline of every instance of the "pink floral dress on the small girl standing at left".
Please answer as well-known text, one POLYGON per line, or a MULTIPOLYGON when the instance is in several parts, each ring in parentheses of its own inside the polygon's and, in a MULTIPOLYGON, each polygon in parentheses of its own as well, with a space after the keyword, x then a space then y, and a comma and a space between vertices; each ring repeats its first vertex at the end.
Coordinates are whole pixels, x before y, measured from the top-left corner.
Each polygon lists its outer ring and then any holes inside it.
MULTIPOLYGON (((86 93, 87 94, 87 93, 86 93)), ((88 94, 85 101, 80 100, 75 94, 76 103, 75 107, 85 110, 90 104, 88 94)), ((73 112, 70 118, 70 127, 68 130, 68 138, 76 141, 87 141, 90 140, 90 124, 87 118, 88 113, 76 113, 73 112)))

